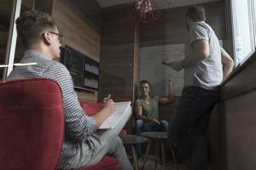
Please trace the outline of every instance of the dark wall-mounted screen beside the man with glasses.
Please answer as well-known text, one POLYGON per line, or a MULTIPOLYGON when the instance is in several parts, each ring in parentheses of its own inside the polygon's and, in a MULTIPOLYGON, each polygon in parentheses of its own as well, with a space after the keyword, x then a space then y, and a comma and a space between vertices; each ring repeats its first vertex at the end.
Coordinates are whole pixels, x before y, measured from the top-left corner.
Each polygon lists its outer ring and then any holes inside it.
POLYGON ((73 77, 74 88, 99 89, 99 63, 96 60, 66 45, 63 63, 73 77))

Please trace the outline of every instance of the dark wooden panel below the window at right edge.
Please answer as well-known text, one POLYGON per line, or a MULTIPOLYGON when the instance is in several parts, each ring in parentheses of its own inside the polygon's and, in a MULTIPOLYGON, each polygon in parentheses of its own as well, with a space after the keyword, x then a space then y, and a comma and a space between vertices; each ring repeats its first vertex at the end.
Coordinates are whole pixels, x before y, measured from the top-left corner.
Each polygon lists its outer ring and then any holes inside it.
POLYGON ((220 116, 225 170, 256 166, 256 53, 221 86, 220 116))

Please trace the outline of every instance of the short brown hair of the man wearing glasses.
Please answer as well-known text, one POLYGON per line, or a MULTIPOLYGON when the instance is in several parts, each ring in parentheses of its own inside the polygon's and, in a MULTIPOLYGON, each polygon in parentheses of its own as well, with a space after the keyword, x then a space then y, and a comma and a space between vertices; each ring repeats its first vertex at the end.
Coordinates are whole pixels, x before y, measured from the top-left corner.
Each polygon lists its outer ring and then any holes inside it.
POLYGON ((41 40, 45 30, 55 31, 55 21, 49 14, 26 11, 15 21, 18 37, 25 48, 41 40))

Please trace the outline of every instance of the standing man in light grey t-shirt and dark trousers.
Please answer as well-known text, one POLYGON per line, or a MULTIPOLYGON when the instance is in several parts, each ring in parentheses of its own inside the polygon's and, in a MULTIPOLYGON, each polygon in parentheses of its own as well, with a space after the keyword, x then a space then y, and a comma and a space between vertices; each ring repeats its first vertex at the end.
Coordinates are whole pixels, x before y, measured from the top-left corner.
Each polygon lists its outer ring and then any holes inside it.
POLYGON ((185 159, 191 170, 207 170, 207 125, 210 113, 218 101, 218 85, 234 67, 212 27, 205 22, 201 5, 186 12, 189 31, 185 44, 185 59, 167 63, 173 70, 184 69, 183 94, 172 117, 168 139, 185 159))

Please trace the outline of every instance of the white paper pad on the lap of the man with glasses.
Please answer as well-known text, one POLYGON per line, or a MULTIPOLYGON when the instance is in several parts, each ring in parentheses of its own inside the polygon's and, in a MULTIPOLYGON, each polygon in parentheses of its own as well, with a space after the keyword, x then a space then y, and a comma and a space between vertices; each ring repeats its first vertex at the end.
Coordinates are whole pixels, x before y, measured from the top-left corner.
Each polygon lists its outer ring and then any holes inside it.
POLYGON ((107 129, 115 127, 125 114, 131 114, 131 101, 117 102, 115 111, 102 123, 99 129, 107 129))

